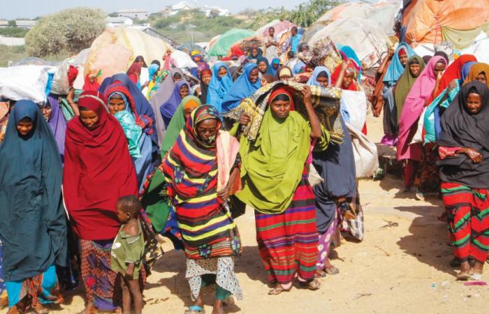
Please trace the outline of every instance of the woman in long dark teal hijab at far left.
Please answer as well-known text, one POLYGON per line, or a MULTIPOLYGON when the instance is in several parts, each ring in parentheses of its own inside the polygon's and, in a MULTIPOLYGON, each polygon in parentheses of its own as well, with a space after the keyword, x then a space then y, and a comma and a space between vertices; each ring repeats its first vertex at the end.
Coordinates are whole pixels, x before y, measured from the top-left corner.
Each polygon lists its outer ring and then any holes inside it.
POLYGON ((15 103, 0 146, 0 239, 10 311, 59 303, 56 265, 66 265, 62 167, 38 106, 15 103), (21 302, 22 301, 22 302, 21 302))

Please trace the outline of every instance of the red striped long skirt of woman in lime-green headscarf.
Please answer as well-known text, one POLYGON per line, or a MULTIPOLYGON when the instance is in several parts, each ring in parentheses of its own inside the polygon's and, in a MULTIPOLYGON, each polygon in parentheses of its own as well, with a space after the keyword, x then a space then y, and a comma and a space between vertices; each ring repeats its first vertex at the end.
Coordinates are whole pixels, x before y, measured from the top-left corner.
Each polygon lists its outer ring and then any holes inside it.
POLYGON ((302 174, 289 208, 281 214, 255 211, 256 241, 270 283, 291 283, 295 273, 314 278, 318 260, 318 232, 314 193, 302 174))

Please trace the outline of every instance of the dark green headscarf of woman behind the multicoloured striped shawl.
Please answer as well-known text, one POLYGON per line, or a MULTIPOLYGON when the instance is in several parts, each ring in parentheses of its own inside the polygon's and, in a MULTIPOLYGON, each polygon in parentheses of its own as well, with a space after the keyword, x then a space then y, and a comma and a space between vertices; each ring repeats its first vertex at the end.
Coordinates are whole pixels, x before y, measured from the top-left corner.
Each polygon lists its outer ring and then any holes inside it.
MULTIPOLYGON (((166 153, 170 151, 180 134, 180 130, 185 126, 184 105, 187 104, 189 100, 195 100, 198 105, 201 105, 200 99, 195 96, 187 96, 182 99, 182 102, 177 107, 175 114, 173 114, 173 117, 170 120, 170 124, 168 124, 165 137, 161 142, 161 158, 164 158, 166 153)), ((170 213, 168 197, 163 197, 163 195, 161 195, 162 190, 165 189, 164 182, 165 178, 163 177, 163 174, 156 169, 142 200, 146 214, 151 220, 156 232, 161 232, 163 230, 166 221, 168 220, 168 214, 170 213)))

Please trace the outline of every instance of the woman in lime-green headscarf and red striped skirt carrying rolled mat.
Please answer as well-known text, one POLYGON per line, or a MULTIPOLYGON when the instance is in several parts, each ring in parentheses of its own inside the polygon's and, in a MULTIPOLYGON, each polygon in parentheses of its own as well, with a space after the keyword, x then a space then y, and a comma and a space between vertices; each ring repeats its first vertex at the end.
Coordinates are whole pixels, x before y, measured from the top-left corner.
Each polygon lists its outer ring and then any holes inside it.
MULTIPOLYGON (((314 279, 318 232, 314 193, 307 181, 311 143, 326 149, 328 133, 312 108, 311 89, 302 90, 309 121, 294 107, 289 88, 272 91, 256 140, 242 136, 243 190, 238 198, 255 209, 256 239, 268 280, 269 294, 290 291, 298 276, 302 286, 319 289, 314 279)), ((241 124, 249 124, 243 115, 241 124)))

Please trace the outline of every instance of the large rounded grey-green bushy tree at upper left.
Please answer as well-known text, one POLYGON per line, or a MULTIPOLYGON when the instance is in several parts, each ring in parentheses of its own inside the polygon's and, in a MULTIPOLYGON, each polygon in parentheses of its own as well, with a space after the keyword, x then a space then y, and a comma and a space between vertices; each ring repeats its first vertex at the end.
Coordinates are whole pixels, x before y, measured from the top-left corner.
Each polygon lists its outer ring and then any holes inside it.
POLYGON ((34 57, 69 52, 77 54, 90 47, 105 29, 105 13, 99 9, 72 8, 42 17, 27 33, 27 52, 34 57))

